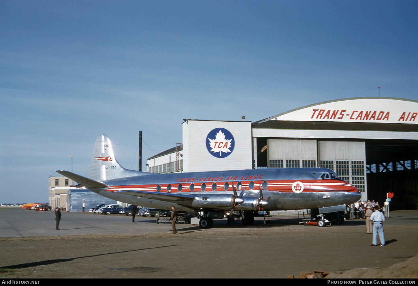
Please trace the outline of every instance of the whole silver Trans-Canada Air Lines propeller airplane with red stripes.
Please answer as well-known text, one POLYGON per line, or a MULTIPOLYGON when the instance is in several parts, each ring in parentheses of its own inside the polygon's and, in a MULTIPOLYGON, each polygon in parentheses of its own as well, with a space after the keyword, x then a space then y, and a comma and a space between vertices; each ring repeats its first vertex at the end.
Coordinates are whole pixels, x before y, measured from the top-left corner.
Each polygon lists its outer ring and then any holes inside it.
POLYGON ((153 174, 123 168, 110 139, 97 137, 89 178, 58 170, 92 192, 115 201, 192 212, 201 228, 224 212, 237 212, 251 225, 257 211, 318 209, 361 198, 352 184, 327 168, 277 168, 153 174), (240 191, 238 195, 237 191, 240 191), (264 199, 265 198, 265 199, 264 199))

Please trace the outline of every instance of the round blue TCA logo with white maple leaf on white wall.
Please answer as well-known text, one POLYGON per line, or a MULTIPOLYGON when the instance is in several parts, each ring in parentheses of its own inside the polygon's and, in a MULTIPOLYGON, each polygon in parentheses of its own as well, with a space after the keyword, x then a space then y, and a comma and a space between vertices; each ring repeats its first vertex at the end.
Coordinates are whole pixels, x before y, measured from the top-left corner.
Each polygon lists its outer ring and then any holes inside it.
POLYGON ((215 128, 206 136, 206 148, 216 158, 229 156, 234 147, 234 136, 225 128, 215 128))

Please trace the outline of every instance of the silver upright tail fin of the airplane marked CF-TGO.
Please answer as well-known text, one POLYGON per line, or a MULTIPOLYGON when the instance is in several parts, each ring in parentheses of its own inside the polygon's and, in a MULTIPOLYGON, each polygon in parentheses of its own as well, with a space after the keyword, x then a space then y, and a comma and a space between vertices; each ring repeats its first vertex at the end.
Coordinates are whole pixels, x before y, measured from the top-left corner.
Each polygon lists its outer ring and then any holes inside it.
POLYGON ((97 136, 94 146, 89 178, 95 181, 105 181, 123 177, 141 176, 146 172, 128 170, 120 166, 115 159, 112 143, 104 134, 97 136))

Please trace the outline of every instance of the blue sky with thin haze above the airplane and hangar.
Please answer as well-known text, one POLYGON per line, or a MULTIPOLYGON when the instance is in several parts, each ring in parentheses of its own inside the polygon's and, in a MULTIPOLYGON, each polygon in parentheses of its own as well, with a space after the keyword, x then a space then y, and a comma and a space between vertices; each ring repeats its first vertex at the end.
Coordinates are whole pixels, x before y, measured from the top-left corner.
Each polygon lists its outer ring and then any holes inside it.
POLYGON ((418 1, 4 0, 0 203, 88 176, 94 140, 137 169, 183 118, 257 121, 326 100, 418 100, 418 1))

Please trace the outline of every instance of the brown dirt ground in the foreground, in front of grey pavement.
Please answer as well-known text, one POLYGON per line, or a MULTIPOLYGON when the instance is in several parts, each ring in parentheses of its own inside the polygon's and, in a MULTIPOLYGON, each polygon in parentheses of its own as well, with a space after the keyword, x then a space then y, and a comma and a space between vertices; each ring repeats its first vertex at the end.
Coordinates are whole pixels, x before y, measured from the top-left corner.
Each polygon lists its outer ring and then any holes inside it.
POLYGON ((418 226, 385 226, 371 247, 364 227, 179 227, 178 235, 3 237, 1 278, 418 278, 418 226), (368 269, 364 269, 368 268, 368 269))

